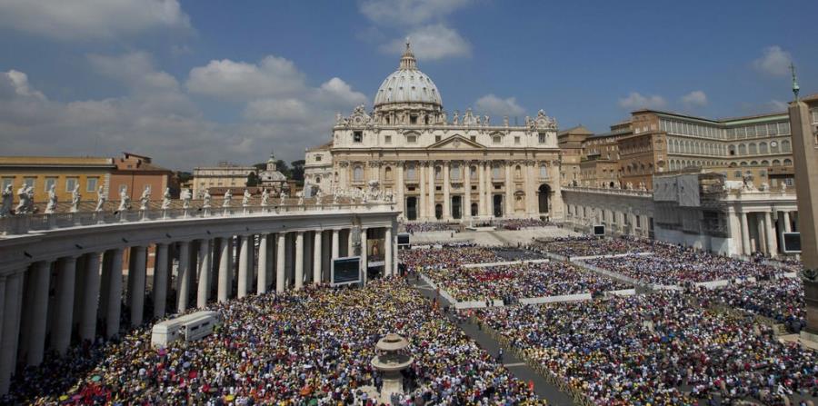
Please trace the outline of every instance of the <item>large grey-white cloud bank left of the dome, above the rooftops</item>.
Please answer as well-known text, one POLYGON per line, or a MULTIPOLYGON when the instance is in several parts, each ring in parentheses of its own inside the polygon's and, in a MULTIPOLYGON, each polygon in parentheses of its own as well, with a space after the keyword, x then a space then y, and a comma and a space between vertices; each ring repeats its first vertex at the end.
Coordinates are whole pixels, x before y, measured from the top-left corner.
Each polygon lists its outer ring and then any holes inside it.
POLYGON ((114 156, 125 150, 187 170, 220 160, 262 162, 271 149, 294 161, 304 158, 304 148, 329 140, 335 112, 348 113, 366 102, 340 78, 306 86, 304 74, 292 65, 287 72, 298 79, 298 91, 249 98, 241 117, 220 123, 205 117, 150 54, 89 55, 88 62, 96 73, 124 84, 126 93, 57 102, 31 86, 25 73, 0 72, 4 153, 114 156))

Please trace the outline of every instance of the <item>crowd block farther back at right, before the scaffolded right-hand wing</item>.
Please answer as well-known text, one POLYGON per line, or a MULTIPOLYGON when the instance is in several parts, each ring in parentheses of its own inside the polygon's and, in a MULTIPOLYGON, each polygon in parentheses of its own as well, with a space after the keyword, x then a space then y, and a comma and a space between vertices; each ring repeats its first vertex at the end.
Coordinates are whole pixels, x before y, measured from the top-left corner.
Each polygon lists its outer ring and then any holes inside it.
POLYGON ((769 279, 776 273, 773 266, 760 262, 740 261, 679 245, 654 243, 650 251, 651 255, 594 258, 584 262, 640 282, 660 285, 681 286, 689 282, 749 277, 769 279))

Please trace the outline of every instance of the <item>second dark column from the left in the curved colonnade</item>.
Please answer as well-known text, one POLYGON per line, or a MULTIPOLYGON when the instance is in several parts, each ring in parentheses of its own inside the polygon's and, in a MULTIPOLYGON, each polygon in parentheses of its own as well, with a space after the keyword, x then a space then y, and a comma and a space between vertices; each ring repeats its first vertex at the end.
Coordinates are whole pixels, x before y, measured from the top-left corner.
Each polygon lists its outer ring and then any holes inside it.
POLYGON ((34 297, 32 298, 31 324, 29 324, 28 353, 25 363, 34 366, 43 361, 45 352, 45 327, 48 321, 48 289, 51 282, 51 262, 37 262, 32 267, 34 297))

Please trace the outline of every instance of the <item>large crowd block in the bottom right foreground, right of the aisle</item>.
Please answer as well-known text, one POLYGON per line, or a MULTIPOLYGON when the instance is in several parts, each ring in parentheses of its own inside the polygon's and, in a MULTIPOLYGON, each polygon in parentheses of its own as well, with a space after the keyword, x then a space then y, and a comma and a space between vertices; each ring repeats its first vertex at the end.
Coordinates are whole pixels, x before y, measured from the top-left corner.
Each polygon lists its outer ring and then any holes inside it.
POLYGON ((684 292, 476 314, 525 360, 595 405, 778 405, 783 397, 818 397, 814 352, 684 292))

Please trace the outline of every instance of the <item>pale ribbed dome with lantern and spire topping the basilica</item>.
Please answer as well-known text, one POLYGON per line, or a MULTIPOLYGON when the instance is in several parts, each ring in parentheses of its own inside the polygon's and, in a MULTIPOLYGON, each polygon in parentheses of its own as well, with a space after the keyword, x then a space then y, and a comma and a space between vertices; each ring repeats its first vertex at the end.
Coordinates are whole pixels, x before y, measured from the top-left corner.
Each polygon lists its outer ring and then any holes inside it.
POLYGON ((417 69, 417 61, 408 42, 398 70, 386 77, 374 98, 374 107, 398 103, 443 105, 432 79, 417 69))

